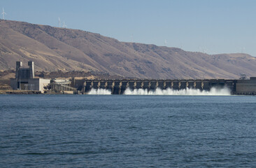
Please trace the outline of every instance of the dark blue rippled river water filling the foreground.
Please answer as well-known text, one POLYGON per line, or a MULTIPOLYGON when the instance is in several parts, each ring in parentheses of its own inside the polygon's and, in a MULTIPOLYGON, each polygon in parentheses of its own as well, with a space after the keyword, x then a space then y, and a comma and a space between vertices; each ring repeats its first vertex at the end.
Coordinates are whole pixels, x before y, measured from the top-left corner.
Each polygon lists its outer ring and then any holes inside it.
POLYGON ((256 97, 1 95, 0 167, 255 167, 256 97))

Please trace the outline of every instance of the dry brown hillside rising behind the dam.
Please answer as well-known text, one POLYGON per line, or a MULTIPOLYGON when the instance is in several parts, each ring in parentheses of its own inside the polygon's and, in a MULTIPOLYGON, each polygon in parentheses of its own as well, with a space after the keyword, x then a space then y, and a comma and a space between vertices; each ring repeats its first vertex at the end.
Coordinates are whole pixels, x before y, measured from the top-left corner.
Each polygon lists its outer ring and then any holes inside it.
POLYGON ((237 78, 255 76, 256 58, 207 55, 125 43, 87 31, 0 20, 0 70, 35 62, 37 71, 91 71, 136 78, 237 78))

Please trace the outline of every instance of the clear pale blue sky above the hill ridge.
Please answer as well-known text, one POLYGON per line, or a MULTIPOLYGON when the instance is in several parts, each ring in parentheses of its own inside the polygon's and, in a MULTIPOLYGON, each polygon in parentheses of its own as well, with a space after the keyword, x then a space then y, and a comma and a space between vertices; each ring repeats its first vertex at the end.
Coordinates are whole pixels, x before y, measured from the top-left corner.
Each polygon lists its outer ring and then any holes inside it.
POLYGON ((256 56, 255 0, 1 0, 0 8, 6 20, 58 27, 60 18, 119 41, 256 56))

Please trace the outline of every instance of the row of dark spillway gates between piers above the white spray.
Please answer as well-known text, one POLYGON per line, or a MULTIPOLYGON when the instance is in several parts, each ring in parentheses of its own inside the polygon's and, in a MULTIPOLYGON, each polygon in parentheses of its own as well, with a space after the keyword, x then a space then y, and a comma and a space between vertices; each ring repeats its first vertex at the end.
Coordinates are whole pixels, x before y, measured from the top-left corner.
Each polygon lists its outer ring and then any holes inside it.
POLYGON ((236 92, 237 80, 205 79, 205 80, 84 80, 82 92, 87 94, 92 89, 111 90, 111 94, 123 94, 127 88, 130 90, 183 90, 192 88, 197 90, 211 90, 211 87, 227 87, 232 94, 236 92))

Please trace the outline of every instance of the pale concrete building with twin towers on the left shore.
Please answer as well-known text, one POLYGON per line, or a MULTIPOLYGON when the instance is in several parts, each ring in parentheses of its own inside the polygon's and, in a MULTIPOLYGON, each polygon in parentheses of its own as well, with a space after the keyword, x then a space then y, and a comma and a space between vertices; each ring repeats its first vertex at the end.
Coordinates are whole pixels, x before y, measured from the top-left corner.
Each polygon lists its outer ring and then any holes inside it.
POLYGON ((14 90, 38 90, 43 91, 50 83, 50 79, 34 77, 34 62, 28 62, 28 68, 22 66, 22 62, 16 62, 15 78, 10 79, 10 86, 14 90))

